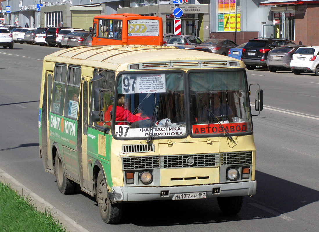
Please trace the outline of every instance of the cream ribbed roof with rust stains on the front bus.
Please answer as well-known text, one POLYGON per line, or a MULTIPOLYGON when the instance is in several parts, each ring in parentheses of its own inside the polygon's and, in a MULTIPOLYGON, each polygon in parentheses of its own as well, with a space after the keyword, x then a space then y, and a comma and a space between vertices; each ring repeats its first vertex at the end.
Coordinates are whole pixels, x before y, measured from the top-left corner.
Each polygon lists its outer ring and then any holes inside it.
POLYGON ((152 45, 110 45, 68 48, 44 57, 44 61, 106 68, 115 71, 132 70, 131 64, 141 69, 189 69, 242 67, 237 59, 176 47, 152 45), (234 61, 237 62, 235 65, 234 61), (232 62, 232 65, 230 64, 232 62))

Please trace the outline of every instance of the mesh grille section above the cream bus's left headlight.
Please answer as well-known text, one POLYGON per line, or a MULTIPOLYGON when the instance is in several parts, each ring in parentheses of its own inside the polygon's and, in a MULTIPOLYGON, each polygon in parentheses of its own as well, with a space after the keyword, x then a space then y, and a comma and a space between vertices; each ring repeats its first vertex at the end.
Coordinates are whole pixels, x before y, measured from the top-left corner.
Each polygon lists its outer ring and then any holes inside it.
POLYGON ((159 156, 122 157, 123 170, 159 168, 159 156))

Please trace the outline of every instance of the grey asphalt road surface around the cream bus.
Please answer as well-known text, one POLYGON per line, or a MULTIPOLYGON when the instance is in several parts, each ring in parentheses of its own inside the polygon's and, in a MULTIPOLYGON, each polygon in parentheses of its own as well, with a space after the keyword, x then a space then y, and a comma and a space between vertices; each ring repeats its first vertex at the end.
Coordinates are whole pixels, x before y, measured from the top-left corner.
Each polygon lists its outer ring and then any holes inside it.
POLYGON ((128 204, 119 225, 102 222, 84 193, 63 195, 38 152, 42 60, 60 48, 14 44, 0 49, 0 168, 87 230, 93 231, 319 231, 319 76, 247 70, 264 91, 254 120, 257 194, 236 216, 216 199, 128 204))

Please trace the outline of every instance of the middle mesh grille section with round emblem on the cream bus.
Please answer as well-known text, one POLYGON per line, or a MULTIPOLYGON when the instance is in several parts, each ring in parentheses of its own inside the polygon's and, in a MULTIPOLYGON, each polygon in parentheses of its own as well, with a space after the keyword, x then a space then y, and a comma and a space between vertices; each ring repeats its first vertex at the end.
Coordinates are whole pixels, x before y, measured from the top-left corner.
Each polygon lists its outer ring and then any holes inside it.
POLYGON ((160 168, 191 168, 219 166, 219 154, 160 156, 160 168))

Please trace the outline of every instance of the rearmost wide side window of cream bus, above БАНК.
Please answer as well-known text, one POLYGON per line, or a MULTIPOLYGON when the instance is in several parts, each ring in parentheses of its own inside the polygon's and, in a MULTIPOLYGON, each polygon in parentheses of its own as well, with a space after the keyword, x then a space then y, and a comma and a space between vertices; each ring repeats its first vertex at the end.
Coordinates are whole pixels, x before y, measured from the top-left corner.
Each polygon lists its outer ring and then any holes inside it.
POLYGON ((55 112, 59 115, 63 113, 66 74, 66 66, 56 65, 52 88, 51 112, 55 112))

